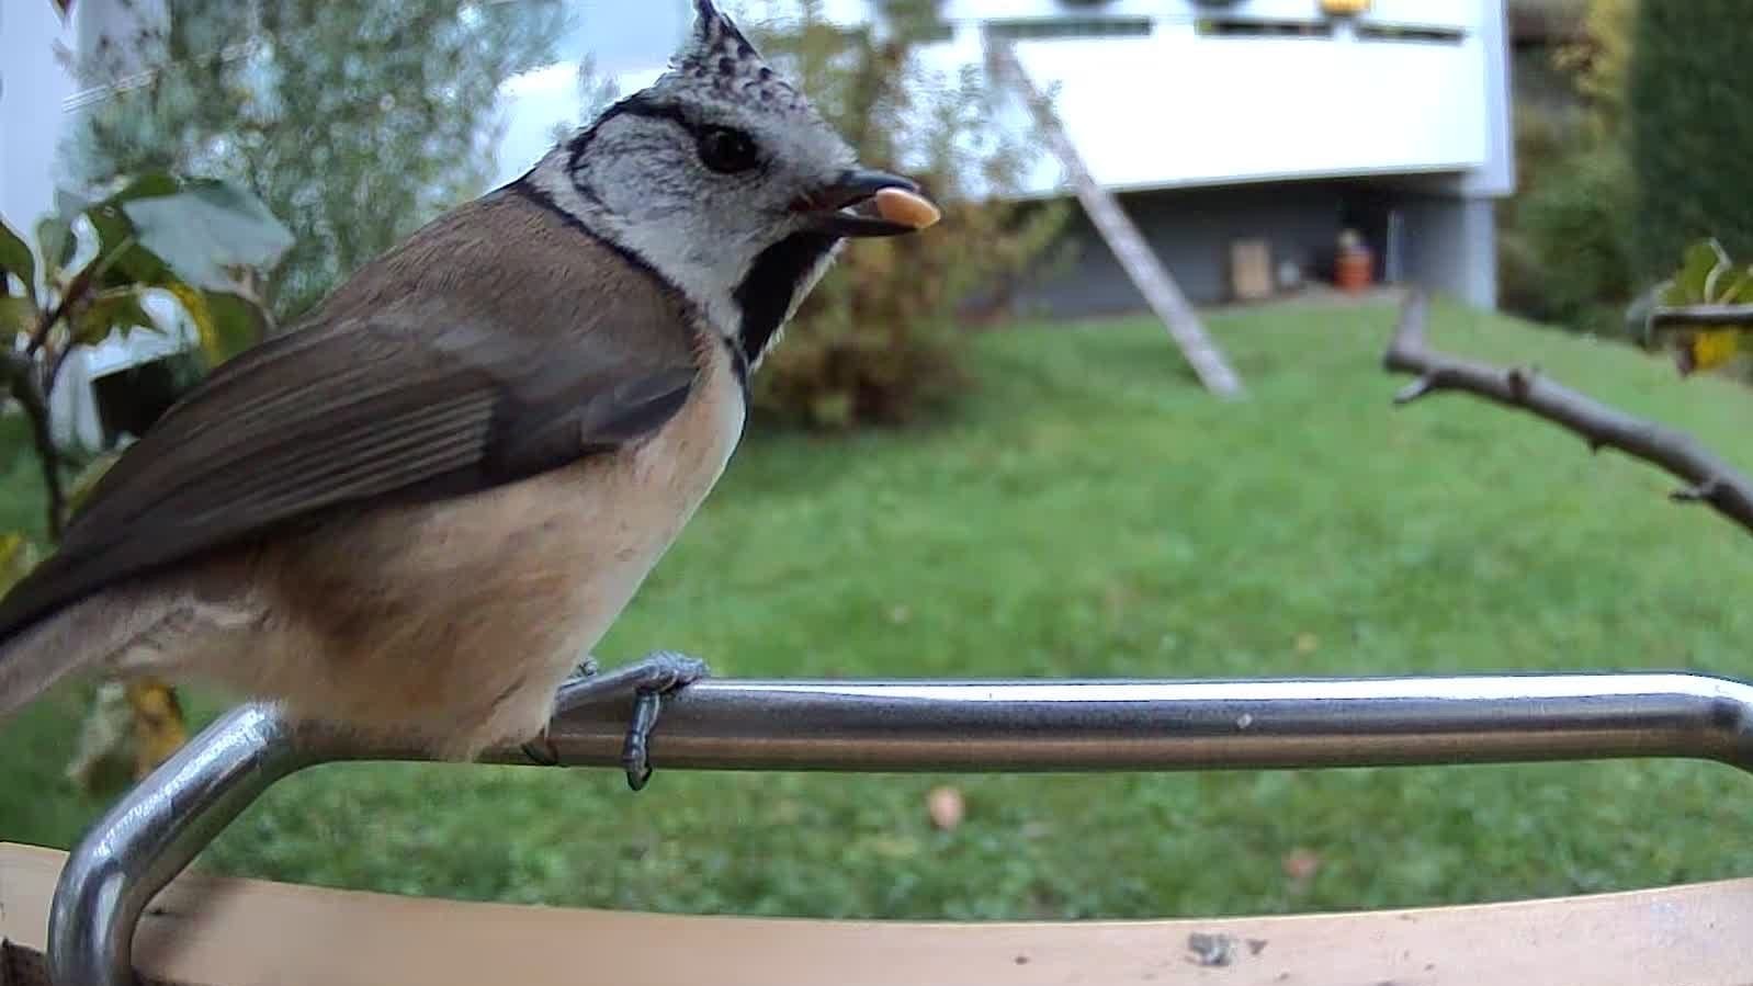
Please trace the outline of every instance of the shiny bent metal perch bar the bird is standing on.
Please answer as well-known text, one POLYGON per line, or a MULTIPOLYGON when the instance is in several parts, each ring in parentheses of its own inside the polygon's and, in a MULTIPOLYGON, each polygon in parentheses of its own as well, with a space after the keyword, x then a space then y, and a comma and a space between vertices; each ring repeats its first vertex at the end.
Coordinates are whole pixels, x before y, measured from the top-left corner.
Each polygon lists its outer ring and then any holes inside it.
MULTIPOLYGON (((631 704, 582 706, 549 737, 615 767, 631 704)), ((1281 681, 708 680, 666 701, 661 769, 1199 771, 1702 758, 1753 771, 1753 685, 1702 674, 1281 681)), ((231 711, 124 795, 74 849, 49 918, 61 986, 133 986, 153 897, 280 778, 358 750, 272 708, 231 711)), ((487 760, 529 764, 519 750, 487 760)), ((645 797, 661 797, 645 795, 645 797)))

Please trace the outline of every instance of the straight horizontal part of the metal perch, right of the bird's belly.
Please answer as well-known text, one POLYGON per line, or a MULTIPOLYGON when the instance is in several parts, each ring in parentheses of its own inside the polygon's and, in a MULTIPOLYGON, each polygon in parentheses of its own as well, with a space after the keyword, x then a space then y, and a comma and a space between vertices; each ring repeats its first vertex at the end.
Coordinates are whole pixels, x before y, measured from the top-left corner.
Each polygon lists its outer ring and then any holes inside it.
MULTIPOLYGON (((1702 757, 1753 771, 1753 685, 1693 674, 1248 681, 701 681, 664 704, 661 767, 1206 771, 1702 757)), ((615 765, 628 706, 550 739, 615 765)), ((519 755, 510 757, 521 758, 519 755)))

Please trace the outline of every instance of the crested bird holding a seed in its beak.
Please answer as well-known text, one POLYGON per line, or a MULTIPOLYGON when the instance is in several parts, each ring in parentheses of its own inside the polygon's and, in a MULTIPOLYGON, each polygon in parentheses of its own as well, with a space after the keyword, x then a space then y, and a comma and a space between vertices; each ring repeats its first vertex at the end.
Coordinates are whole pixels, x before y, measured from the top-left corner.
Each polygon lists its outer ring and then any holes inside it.
POLYGON ((941 217, 712 0, 666 70, 216 366, 0 599, 0 720, 75 671, 207 681, 365 743, 538 757, 708 666, 591 650, 719 482, 848 240, 941 217), (535 746, 531 746, 535 744, 535 746))

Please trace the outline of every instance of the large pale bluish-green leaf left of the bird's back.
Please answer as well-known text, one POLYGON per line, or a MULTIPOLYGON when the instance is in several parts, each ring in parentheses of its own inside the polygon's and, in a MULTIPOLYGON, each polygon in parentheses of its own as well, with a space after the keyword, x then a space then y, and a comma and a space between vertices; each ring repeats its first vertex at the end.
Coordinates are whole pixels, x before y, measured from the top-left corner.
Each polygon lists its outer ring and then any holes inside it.
POLYGON ((268 270, 293 235, 256 196, 221 180, 189 180, 168 194, 121 201, 140 245, 205 291, 230 291, 233 268, 268 270))

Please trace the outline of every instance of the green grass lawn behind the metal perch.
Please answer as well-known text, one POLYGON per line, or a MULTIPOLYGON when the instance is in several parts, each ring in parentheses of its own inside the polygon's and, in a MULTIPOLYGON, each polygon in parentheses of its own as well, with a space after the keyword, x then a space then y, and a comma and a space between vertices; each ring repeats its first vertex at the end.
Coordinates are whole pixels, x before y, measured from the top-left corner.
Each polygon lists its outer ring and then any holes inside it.
MULTIPOLYGON (((1213 317, 1241 405, 1150 322, 985 336, 950 422, 745 447, 598 653, 671 646, 729 676, 1753 674, 1744 534, 1522 415, 1390 408, 1392 320, 1213 317)), ((1734 385, 1451 306, 1432 345, 1534 361, 1749 459, 1734 385)), ((0 730, 0 839, 67 846, 102 809, 60 779, 77 697, 0 730)), ((659 771, 642 795, 612 771, 340 765, 279 785, 200 865, 624 909, 1143 918, 1753 874, 1749 828, 1753 785, 1709 764, 659 771), (940 783, 966 793, 952 832, 926 814, 940 783), (1292 879, 1292 853, 1320 865, 1292 879)))

